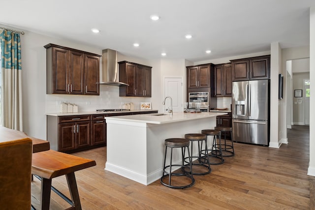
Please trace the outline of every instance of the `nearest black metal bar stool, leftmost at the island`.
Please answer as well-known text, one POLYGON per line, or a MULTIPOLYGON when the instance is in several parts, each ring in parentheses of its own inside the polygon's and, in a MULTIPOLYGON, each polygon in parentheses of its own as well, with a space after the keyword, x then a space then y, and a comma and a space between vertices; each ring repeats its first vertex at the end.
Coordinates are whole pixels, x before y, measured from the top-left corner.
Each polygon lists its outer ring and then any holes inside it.
MULTIPOLYGON (((165 139, 165 155, 164 155, 164 165, 163 165, 163 175, 160 178, 160 182, 168 187, 171 188, 186 188, 190 187, 195 183, 195 180, 192 176, 192 165, 191 165, 191 157, 189 153, 189 140, 187 139, 182 139, 182 138, 171 138, 171 139, 165 139), (171 149, 171 157, 170 157, 170 164, 168 166, 165 166, 166 163, 166 153, 167 153, 167 148, 171 149), (172 164, 172 156, 173 156, 173 148, 181 148, 182 149, 182 161, 183 164, 172 164), (188 150, 188 159, 189 159, 189 164, 185 165, 185 149, 187 148, 188 150), (180 167, 182 170, 181 172, 172 172, 172 167, 180 167), (166 169, 169 168, 169 172, 166 171, 166 169), (189 169, 189 172, 185 171, 185 168, 189 169), (168 183, 166 183, 164 180, 165 177, 168 176, 168 183), (190 179, 189 183, 187 185, 174 185, 171 183, 171 177, 188 177, 190 179)), ((177 179, 175 182, 178 181, 177 179)), ((185 180, 180 180, 180 183, 185 182, 185 180)))

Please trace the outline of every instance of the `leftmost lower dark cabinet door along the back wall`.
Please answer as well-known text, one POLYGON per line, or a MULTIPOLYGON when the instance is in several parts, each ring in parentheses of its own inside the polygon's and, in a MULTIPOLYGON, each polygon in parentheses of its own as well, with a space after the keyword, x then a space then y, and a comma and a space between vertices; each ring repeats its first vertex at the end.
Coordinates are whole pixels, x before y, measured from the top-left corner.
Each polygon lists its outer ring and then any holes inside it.
POLYGON ((74 150, 75 149, 75 123, 60 123, 59 127, 58 151, 74 150))

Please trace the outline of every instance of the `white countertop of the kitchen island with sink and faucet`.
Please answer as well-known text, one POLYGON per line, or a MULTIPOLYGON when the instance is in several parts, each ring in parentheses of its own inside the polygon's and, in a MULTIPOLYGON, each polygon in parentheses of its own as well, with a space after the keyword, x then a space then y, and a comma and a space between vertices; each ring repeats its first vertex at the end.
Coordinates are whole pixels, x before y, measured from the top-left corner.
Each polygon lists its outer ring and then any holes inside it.
POLYGON ((146 115, 126 115, 126 116, 115 116, 115 117, 105 117, 107 122, 110 120, 118 120, 118 121, 129 121, 129 122, 144 122, 151 124, 165 124, 171 122, 178 121, 186 121, 186 120, 197 120, 203 118, 212 118, 219 115, 224 115, 226 112, 201 112, 201 113, 184 113, 178 112, 173 113, 173 116, 169 114, 160 115, 158 114, 146 114, 146 115))

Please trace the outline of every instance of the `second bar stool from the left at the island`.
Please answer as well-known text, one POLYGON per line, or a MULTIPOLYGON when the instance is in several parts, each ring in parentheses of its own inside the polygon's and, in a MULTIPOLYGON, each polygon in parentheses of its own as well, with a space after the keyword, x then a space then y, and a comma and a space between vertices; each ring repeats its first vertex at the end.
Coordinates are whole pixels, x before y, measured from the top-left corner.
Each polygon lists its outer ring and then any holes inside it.
MULTIPOLYGON (((201 133, 189 133, 189 134, 185 134, 185 139, 188 139, 191 142, 191 146, 190 146, 190 151, 191 151, 191 158, 195 159, 197 158, 197 161, 193 161, 192 162, 192 166, 203 166, 207 168, 206 172, 192 172, 193 175, 205 175, 205 174, 209 174, 211 172, 211 167, 210 167, 210 161, 209 161, 209 151, 208 151, 208 147, 207 147, 207 136, 205 134, 201 134, 201 133), (193 142, 198 142, 198 156, 193 156, 192 152, 193 152, 193 142), (202 156, 202 143, 205 142, 205 153, 202 156)), ((187 159, 187 158, 186 158, 187 159)), ((186 163, 188 163, 185 160, 186 163)), ((195 170, 194 170, 195 171, 195 170)))

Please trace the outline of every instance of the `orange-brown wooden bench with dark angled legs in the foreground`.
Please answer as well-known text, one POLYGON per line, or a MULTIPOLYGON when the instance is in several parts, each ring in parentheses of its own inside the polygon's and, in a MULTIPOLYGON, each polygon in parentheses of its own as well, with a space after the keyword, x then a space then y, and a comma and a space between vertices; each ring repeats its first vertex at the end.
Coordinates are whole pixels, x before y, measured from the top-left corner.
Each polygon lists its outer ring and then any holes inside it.
POLYGON ((65 175, 72 200, 70 203, 72 208, 70 209, 81 210, 74 172, 95 165, 95 160, 85 159, 55 150, 33 153, 32 174, 41 178, 41 209, 49 210, 52 179, 65 175))

